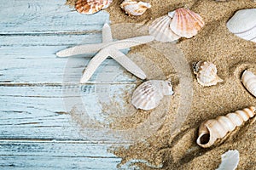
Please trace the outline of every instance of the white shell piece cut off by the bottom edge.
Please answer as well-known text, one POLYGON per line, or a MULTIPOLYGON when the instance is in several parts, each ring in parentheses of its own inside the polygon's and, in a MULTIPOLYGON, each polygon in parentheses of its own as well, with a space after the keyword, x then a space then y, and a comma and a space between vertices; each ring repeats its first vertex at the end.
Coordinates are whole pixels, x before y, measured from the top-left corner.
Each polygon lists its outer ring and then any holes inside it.
POLYGON ((216 170, 235 170, 239 163, 239 151, 229 150, 221 155, 221 163, 216 170))

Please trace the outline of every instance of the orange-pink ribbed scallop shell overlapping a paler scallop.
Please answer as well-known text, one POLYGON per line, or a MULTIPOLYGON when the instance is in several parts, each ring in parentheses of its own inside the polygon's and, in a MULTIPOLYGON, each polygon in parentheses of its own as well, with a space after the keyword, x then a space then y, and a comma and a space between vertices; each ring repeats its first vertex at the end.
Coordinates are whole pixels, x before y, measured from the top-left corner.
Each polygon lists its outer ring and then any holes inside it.
POLYGON ((205 26, 199 14, 188 8, 177 8, 172 18, 170 27, 180 37, 193 37, 205 26))

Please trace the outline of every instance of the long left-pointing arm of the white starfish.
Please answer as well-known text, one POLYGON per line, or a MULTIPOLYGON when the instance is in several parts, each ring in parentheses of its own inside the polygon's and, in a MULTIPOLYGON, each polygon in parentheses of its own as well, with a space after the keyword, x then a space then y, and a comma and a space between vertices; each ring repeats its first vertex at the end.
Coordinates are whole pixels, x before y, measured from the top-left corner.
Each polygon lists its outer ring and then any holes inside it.
POLYGON ((61 50, 58 53, 56 53, 56 55, 58 57, 69 57, 69 56, 78 55, 78 54, 95 54, 103 46, 104 46, 103 43, 79 45, 73 48, 67 48, 67 49, 61 50))

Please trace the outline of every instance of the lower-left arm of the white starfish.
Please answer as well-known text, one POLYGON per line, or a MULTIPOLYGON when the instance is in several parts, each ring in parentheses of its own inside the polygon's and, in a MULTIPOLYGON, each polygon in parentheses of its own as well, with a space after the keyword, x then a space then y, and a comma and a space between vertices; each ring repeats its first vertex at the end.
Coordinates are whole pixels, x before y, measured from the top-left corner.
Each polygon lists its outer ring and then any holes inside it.
POLYGON ((96 71, 99 65, 107 59, 109 56, 108 48, 103 48, 96 54, 92 59, 90 59, 89 64, 87 65, 86 69, 84 70, 83 77, 80 79, 81 83, 87 82, 93 73, 96 71))

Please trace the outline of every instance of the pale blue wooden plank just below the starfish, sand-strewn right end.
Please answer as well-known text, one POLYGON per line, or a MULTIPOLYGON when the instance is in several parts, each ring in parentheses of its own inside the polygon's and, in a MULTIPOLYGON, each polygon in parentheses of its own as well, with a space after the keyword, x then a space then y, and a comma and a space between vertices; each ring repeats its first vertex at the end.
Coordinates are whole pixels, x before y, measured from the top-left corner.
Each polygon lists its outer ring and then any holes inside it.
POLYGON ((100 102, 109 102, 109 99, 126 102, 120 93, 131 93, 135 86, 0 86, 0 139, 82 139, 99 143, 123 143, 124 140, 113 138, 107 128, 100 124, 98 127, 92 125, 106 123, 102 122, 104 113, 100 102), (88 112, 71 113, 77 105, 83 105, 84 111, 88 112))

